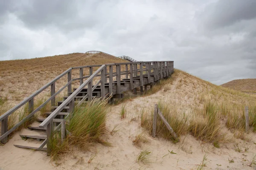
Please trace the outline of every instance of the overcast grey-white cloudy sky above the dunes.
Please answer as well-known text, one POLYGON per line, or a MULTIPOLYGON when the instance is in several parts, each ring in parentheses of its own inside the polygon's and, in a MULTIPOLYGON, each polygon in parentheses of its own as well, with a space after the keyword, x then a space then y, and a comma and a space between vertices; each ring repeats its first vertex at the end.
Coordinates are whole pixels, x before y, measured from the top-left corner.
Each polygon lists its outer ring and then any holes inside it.
POLYGON ((0 0, 0 60, 90 50, 256 78, 256 0, 0 0))

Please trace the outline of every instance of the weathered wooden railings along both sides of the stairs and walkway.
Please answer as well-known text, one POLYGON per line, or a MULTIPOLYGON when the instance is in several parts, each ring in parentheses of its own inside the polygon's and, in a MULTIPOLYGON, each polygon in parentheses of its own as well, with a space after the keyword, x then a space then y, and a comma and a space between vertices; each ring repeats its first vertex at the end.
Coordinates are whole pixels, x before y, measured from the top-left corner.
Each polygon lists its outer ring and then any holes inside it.
MULTIPOLYGON (((169 77, 173 72, 173 61, 151 61, 151 62, 124 62, 124 63, 111 63, 106 65, 86 65, 86 66, 79 66, 79 67, 73 67, 67 69, 67 71, 64 71, 62 74, 60 74, 58 77, 53 79, 51 82, 47 83, 47 85, 44 85, 42 88, 40 88, 38 91, 36 91, 34 94, 30 95, 28 98, 24 99, 22 102, 20 102, 18 105, 13 107, 11 110, 7 111, 3 115, 0 116, 1 121, 1 136, 0 141, 2 143, 7 142, 7 136, 12 133, 17 127, 19 127, 23 122, 25 122, 27 119, 29 119, 31 116, 33 116, 36 112, 38 112, 41 108, 44 107, 48 102, 51 101, 52 105, 55 104, 55 96, 60 94, 61 91, 63 91, 65 88, 67 88, 68 94, 70 94, 64 102, 61 103, 61 105, 58 106, 58 108, 55 109, 40 125, 41 128, 47 129, 47 139, 41 144, 39 149, 42 149, 45 144, 49 142, 49 138, 51 137, 52 130, 53 130, 53 119, 55 119, 55 116, 60 113, 63 108, 67 107, 69 105, 69 115, 72 115, 73 109, 75 107, 74 99, 79 94, 82 89, 87 87, 87 95, 84 96, 84 98, 78 103, 78 105, 81 105, 81 103, 88 99, 88 101, 91 101, 93 98, 93 90, 100 85, 101 88, 101 98, 103 99, 105 96, 113 96, 122 94, 123 91, 133 90, 137 87, 140 87, 140 89, 143 88, 143 85, 146 87, 146 85, 157 82, 160 79, 163 79, 165 77, 169 77), (114 68, 115 67, 115 72, 114 68), (93 73, 93 68, 98 68, 93 73), (121 69, 122 68, 122 69, 121 69), (79 69, 79 77, 72 79, 72 70, 79 69), (89 75, 84 76, 84 69, 89 69, 89 75), (152 76, 153 74, 153 76, 152 76), (61 79, 67 75, 67 84, 64 85, 62 88, 60 88, 57 92, 55 92, 55 82, 58 79, 61 79), (96 79, 96 77, 100 77, 99 79, 96 79), (154 77, 154 78, 152 78, 154 77), (121 79, 128 79, 126 83, 128 83, 128 86, 122 85, 121 86, 121 79), (85 81, 84 81, 85 79, 85 81), (94 82, 97 82, 93 86, 93 80, 96 80, 94 82), (79 81, 80 86, 75 91, 70 93, 72 82, 79 81), (46 88, 51 87, 51 96, 49 99, 47 99, 42 105, 40 105, 38 108, 34 108, 34 98, 38 96, 38 94, 41 94, 42 91, 44 91, 46 88), (17 111, 17 109, 24 106, 26 103, 29 103, 29 113, 26 118, 21 120, 17 123, 14 127, 12 127, 10 130, 8 130, 8 116, 10 116, 12 113, 17 111)), ((122 83, 125 83, 122 81, 122 83)), ((146 90, 147 88, 145 88, 146 90)), ((67 116, 67 117, 68 117, 67 116)), ((67 119, 66 117, 66 119, 67 119)), ((64 121, 64 120, 63 120, 64 121)), ((54 131, 58 130, 61 127, 61 132, 63 133, 61 136, 65 137, 65 123, 61 122, 58 127, 55 128, 54 131)))

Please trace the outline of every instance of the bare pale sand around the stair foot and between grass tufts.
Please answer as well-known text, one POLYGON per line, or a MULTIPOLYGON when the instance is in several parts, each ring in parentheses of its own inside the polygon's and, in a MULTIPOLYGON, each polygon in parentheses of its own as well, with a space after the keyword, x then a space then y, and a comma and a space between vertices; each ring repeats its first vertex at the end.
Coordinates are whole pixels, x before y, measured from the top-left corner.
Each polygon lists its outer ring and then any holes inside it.
MULTIPOLYGON (((180 75, 180 79, 185 75, 180 75)), ((148 108, 150 113, 154 104, 158 101, 170 102, 176 108, 191 108, 193 103, 198 103, 198 92, 202 91, 203 85, 191 83, 186 88, 177 88, 180 79, 168 85, 168 90, 160 89, 156 94, 141 96, 128 100, 122 104, 111 106, 106 122, 107 133, 104 139, 110 142, 113 147, 106 147, 96 144, 88 151, 72 149, 72 152, 64 156, 61 161, 51 162, 50 157, 44 151, 34 151, 14 147, 13 144, 23 144, 19 134, 16 133, 4 146, 0 146, 0 169, 3 170, 196 170, 204 155, 207 155, 207 164, 204 169, 218 170, 251 170, 249 161, 256 153, 256 135, 250 136, 249 142, 241 139, 232 139, 232 142, 220 144, 220 148, 212 144, 196 140, 190 134, 181 136, 177 144, 162 138, 153 138, 145 131, 148 143, 141 147, 133 144, 135 136, 144 131, 140 126, 140 111, 148 108), (120 119, 119 113, 125 105, 127 116, 120 119), (111 135, 113 127, 118 125, 118 132, 111 135), (235 151, 235 146, 241 148, 241 152, 235 151), (234 146, 235 145, 235 146, 234 146), (248 148, 248 150, 247 150, 248 148), (151 151, 151 160, 143 164, 136 162, 137 155, 147 149, 151 151), (247 150, 247 151, 245 151, 247 150), (172 151, 173 153, 169 153, 172 151), (176 154, 174 154, 176 153, 176 154), (93 158, 90 163, 88 161, 93 158), (233 163, 229 162, 233 160, 233 163)), ((198 80, 192 80, 197 82, 198 80)), ((205 86, 205 85, 204 85, 205 86)), ((207 88, 207 85, 206 85, 207 88)), ((34 133, 26 131, 26 133, 34 133)), ((32 143, 32 142, 31 142, 32 143)), ((33 142, 35 143, 35 142, 33 142)))

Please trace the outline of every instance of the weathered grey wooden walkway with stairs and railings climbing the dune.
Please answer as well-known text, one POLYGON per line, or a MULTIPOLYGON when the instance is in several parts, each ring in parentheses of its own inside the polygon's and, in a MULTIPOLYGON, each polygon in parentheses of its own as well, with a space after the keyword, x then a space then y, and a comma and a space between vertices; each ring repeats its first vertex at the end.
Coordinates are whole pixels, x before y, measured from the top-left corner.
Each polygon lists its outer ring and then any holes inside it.
MULTIPOLYGON (((32 117, 36 112, 40 111, 48 102, 52 104, 52 111, 46 113, 46 119, 38 119, 40 125, 29 127, 31 130, 44 131, 44 135, 23 135, 21 137, 37 139, 43 142, 35 146, 15 145, 16 147, 30 148, 35 150, 47 150, 45 145, 49 144, 49 139, 52 132, 61 130, 61 137, 65 138, 66 129, 65 121, 69 115, 73 113, 76 106, 80 106, 84 102, 91 101, 93 98, 110 97, 120 98, 125 91, 134 91, 137 93, 137 88, 140 91, 147 91, 154 83, 160 79, 169 77, 173 72, 173 61, 150 61, 150 62, 124 62, 124 63, 111 63, 105 65, 86 65, 80 67, 73 67, 67 69, 51 82, 44 85, 34 94, 24 99, 18 105, 0 116, 1 121, 1 136, 2 143, 7 142, 7 136, 19 127, 26 119, 32 117), (93 68, 98 68, 93 72, 93 68), (72 70, 79 69, 79 77, 72 77, 72 70), (84 70, 89 70, 89 75, 84 76, 84 70), (55 83, 62 77, 67 76, 67 84, 55 91, 55 83), (98 79, 97 79, 98 78, 98 79), (94 81, 93 81, 94 80, 94 81), (99 80, 99 81, 95 81, 99 80), (71 90, 72 82, 79 81, 80 86, 71 90), (93 82, 96 82, 93 84, 93 82), (38 96, 48 87, 51 88, 51 96, 38 108, 34 108, 34 98, 38 96), (68 96, 63 97, 63 101, 58 102, 55 106, 55 97, 62 91, 67 89, 68 96), (30 114, 17 125, 8 130, 8 116, 14 113, 17 109, 21 108, 26 103, 29 104, 30 114)), ((42 133, 41 133, 42 134, 42 133)), ((49 149, 48 149, 49 153, 49 149)))

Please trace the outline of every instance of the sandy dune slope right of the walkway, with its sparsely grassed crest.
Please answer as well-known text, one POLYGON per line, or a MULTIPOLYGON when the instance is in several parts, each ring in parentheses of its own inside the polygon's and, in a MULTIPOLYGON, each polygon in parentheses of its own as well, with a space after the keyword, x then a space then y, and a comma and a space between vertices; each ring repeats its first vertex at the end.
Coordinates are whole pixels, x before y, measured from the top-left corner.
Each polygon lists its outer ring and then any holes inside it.
MULTIPOLYGON (((246 105, 249 106, 250 114, 253 113, 252 106, 256 105, 256 96, 212 85, 183 71, 175 70, 170 79, 154 86, 148 94, 127 98, 121 104, 111 106, 104 140, 110 142, 112 147, 96 144, 86 152, 74 148, 53 166, 50 158, 42 151, 13 147, 12 144, 22 142, 18 134, 15 134, 7 144, 0 147, 1 154, 5 155, 0 159, 0 164, 4 169, 27 169, 29 164, 30 169, 40 167, 42 170, 196 170, 206 155, 207 161, 202 166, 205 170, 251 170, 250 161, 253 153, 256 153, 255 132, 252 130, 249 134, 237 135, 240 130, 227 128, 226 123, 230 113, 239 114, 244 120, 242 115, 246 105), (209 100, 216 105, 215 110, 223 115, 218 121, 221 131, 227 136, 227 139, 216 145, 196 138, 190 131, 181 135, 180 142, 177 143, 163 139, 159 135, 152 138, 151 130, 141 127, 141 117, 150 116, 154 104, 159 102, 169 105, 171 111, 188 120, 188 124, 193 117, 199 123, 203 123, 200 113, 204 111, 205 103, 209 100), (123 107, 126 110, 126 118, 120 119, 123 107), (133 141, 142 133, 146 142, 137 147, 133 141), (137 161, 143 150, 150 152, 145 163, 137 161)), ((237 119, 236 121, 238 122, 237 119)))

